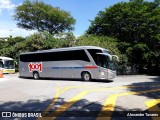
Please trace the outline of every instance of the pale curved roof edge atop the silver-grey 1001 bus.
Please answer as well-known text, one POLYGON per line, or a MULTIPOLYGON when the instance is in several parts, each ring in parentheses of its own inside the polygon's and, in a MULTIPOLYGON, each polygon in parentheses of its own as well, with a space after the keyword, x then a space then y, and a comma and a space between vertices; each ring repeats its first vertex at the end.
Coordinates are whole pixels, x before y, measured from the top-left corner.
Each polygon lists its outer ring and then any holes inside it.
POLYGON ((21 54, 34 54, 34 53, 45 53, 45 52, 52 52, 52 51, 68 51, 68 50, 79 50, 79 49, 99 49, 99 50, 105 50, 108 51, 108 49, 96 47, 96 46, 76 46, 76 47, 66 47, 66 48, 57 48, 57 49, 48 49, 48 50, 41 50, 41 51, 35 51, 35 52, 26 52, 21 54))

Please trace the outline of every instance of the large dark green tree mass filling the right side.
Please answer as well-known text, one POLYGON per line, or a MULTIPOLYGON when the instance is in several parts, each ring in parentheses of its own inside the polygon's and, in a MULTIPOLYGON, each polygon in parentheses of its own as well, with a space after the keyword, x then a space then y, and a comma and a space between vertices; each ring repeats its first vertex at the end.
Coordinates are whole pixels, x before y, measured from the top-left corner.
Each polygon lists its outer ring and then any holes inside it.
POLYGON ((117 3, 100 11, 86 33, 117 38, 121 53, 140 71, 145 67, 160 71, 159 0, 117 3))

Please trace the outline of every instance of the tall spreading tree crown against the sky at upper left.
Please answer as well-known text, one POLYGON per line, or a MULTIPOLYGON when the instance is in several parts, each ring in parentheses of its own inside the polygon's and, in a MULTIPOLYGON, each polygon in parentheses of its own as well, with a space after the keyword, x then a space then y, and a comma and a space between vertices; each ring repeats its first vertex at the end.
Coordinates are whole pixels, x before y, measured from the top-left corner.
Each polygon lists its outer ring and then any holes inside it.
POLYGON ((38 0, 25 0, 16 8, 13 17, 20 28, 48 31, 50 34, 71 31, 75 24, 75 19, 69 12, 38 0))

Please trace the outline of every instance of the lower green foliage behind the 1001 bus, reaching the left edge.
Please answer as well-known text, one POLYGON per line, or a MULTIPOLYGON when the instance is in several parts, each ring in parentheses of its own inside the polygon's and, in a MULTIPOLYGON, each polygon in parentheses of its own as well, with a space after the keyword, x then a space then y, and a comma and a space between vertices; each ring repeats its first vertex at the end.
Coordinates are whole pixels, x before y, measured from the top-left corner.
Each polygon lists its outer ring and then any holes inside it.
POLYGON ((12 57, 18 61, 19 54, 22 52, 69 47, 73 45, 73 41, 75 41, 73 33, 61 33, 53 36, 48 32, 37 32, 26 38, 15 37, 3 40, 3 44, 0 44, 0 56, 12 57))

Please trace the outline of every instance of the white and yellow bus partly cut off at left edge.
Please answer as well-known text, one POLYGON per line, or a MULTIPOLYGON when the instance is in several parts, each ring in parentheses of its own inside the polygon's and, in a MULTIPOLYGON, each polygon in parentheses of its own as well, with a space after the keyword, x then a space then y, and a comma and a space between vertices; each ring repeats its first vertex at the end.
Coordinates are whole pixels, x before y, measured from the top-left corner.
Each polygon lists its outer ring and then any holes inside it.
POLYGON ((12 58, 0 56, 0 68, 3 73, 15 73, 15 63, 12 58))

